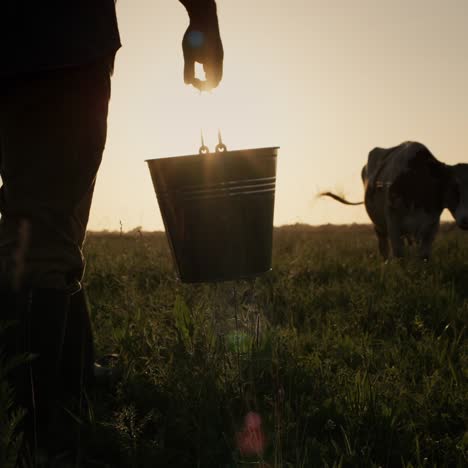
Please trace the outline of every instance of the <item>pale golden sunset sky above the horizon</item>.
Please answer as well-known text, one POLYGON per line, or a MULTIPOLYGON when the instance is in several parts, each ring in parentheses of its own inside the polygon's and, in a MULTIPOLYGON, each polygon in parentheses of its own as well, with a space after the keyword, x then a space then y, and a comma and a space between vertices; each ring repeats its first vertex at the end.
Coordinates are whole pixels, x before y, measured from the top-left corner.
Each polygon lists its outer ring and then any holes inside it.
MULTIPOLYGON (((360 172, 375 146, 420 141, 468 162, 467 0, 218 0, 224 80, 182 80, 177 0, 119 0, 106 152, 89 229, 163 229, 146 159, 280 146, 275 225, 368 222, 360 172)), ((446 217, 446 216, 445 216, 446 217)))

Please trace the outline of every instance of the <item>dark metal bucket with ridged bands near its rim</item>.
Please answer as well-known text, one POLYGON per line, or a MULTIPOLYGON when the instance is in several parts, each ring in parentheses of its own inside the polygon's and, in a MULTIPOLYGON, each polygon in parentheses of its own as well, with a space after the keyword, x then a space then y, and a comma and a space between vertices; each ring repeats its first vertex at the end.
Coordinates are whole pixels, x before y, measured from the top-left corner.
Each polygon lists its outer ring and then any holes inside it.
POLYGON ((271 269, 278 148, 148 160, 181 281, 271 269))

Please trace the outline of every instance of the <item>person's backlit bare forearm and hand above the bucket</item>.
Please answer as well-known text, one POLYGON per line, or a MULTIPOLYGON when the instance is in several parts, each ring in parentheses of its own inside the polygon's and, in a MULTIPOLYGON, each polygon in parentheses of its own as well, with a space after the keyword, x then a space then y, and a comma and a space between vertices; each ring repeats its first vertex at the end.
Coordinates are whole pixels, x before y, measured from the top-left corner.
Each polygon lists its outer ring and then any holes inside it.
POLYGON ((180 0, 190 24, 182 40, 184 81, 200 91, 216 88, 223 77, 224 51, 213 0, 180 0), (205 80, 195 77, 195 62, 203 65, 205 80))

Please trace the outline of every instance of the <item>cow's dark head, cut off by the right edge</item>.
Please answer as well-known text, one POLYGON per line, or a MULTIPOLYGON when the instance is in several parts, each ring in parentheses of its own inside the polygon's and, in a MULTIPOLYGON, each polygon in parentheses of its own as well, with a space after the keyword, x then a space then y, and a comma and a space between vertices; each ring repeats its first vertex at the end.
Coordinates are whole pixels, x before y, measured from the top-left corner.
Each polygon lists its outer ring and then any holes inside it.
POLYGON ((456 164, 450 167, 447 208, 452 213, 457 226, 468 230, 468 164, 456 164))

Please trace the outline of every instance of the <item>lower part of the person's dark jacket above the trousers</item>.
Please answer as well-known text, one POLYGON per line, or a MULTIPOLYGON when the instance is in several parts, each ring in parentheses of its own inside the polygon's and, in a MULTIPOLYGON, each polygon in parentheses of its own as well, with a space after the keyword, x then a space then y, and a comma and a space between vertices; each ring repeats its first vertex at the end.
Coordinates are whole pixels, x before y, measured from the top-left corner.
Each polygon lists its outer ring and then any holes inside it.
POLYGON ((0 76, 73 67, 120 48, 114 0, 5 0, 0 76))

